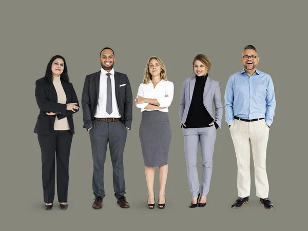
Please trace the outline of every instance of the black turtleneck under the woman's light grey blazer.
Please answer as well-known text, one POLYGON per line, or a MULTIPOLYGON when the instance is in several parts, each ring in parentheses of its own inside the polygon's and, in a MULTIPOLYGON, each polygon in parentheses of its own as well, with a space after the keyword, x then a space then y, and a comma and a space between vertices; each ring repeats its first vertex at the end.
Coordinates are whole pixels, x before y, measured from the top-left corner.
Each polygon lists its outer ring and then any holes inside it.
MULTIPOLYGON (((184 128, 210 127, 209 124, 213 122, 213 118, 211 118, 203 104, 203 92, 207 76, 208 74, 203 76, 196 75, 194 93, 192 93, 192 99, 185 122, 186 127, 184 128)), ((216 122, 215 127, 216 129, 218 128, 216 122)))

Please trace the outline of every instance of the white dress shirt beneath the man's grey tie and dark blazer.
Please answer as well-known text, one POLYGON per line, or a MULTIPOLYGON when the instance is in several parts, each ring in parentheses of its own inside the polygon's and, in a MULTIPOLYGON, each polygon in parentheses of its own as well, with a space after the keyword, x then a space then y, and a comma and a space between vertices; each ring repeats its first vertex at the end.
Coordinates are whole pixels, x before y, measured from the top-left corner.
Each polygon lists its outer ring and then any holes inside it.
POLYGON ((103 68, 101 68, 99 101, 98 101, 98 106, 94 114, 94 117, 97 117, 97 118, 120 118, 121 117, 119 113, 118 104, 117 104, 117 98, 115 98, 113 68, 110 72, 107 72, 103 68), (107 73, 110 73, 110 80, 111 80, 111 93, 112 93, 112 112, 111 114, 108 114, 106 111, 107 78, 108 78, 107 73))

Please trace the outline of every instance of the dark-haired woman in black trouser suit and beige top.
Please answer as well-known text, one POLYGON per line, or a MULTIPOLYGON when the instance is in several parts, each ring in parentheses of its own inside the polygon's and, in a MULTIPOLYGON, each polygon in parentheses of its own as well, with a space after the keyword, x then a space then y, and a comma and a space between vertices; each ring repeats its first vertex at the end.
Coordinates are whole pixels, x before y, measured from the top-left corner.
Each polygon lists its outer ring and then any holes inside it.
POLYGON ((40 108, 34 132, 42 152, 44 208, 50 210, 53 206, 56 157, 57 196, 60 208, 67 209, 72 114, 79 110, 79 103, 61 55, 51 58, 45 76, 35 82, 35 99, 40 108))

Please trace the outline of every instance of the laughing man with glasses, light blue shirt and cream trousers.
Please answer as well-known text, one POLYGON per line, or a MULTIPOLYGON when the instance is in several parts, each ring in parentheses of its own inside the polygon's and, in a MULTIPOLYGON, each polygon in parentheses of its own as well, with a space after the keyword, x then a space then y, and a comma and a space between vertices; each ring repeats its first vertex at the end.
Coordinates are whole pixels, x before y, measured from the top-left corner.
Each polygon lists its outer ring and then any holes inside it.
POLYGON ((276 107, 271 76, 257 70, 259 56, 254 46, 244 48, 241 62, 244 69, 231 75, 225 90, 225 117, 234 143, 238 176, 238 199, 232 208, 249 202, 250 144, 252 146, 257 197, 264 208, 274 208, 268 199, 266 146, 276 107))

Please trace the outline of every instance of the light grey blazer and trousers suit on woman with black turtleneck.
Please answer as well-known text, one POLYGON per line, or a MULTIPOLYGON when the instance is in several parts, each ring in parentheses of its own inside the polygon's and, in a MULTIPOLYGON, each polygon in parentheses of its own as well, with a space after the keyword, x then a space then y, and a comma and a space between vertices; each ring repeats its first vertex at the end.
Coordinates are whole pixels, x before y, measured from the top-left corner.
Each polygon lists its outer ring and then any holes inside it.
MULTIPOLYGON (((196 77, 185 79, 182 86, 181 101, 180 101, 180 122, 183 125, 186 122, 189 106, 194 92, 196 77)), ((222 119, 222 103, 220 95, 219 82, 207 77, 203 91, 203 105, 208 111, 213 123, 221 126, 222 119), (213 113, 212 104, 215 105, 215 115, 213 113)), ((185 158, 187 166, 187 176, 189 189, 192 197, 197 197, 199 194, 199 179, 197 170, 197 153, 199 142, 201 144, 202 157, 202 186, 201 195, 206 196, 209 190, 209 184, 213 166, 213 152, 216 140, 216 127, 203 128, 184 128, 185 142, 185 158)))

